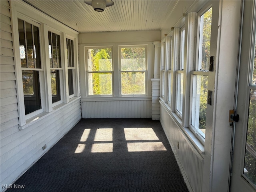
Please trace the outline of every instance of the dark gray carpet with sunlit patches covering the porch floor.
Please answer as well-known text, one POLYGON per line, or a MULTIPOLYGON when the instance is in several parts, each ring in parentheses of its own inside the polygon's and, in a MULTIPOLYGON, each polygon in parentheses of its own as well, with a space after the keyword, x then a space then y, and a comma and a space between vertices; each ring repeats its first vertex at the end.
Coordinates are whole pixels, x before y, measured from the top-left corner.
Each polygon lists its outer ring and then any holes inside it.
POLYGON ((188 192, 160 122, 151 119, 82 119, 15 184, 25 188, 7 192, 188 192), (111 136, 96 134, 103 128, 111 136), (138 138, 127 139, 130 130, 138 138))

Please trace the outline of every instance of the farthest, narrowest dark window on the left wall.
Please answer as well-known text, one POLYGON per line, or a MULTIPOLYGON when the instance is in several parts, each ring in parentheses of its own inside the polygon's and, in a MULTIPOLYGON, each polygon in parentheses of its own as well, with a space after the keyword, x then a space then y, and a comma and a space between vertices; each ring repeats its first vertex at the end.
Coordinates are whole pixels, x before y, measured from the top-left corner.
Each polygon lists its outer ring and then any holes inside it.
POLYGON ((71 39, 66 39, 67 41, 67 60, 68 60, 68 95, 74 95, 74 73, 75 73, 75 65, 74 65, 74 41, 71 39))

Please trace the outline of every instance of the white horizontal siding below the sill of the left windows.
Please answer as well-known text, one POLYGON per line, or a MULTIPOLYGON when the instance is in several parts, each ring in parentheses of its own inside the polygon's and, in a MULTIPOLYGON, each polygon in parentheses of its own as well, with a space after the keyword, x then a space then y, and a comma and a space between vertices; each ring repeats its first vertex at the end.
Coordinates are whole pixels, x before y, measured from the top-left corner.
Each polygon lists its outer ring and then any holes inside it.
MULTIPOLYGON (((10 184, 81 119, 80 100, 18 132, 1 132, 1 183, 10 184)), ((14 127, 18 130, 18 127, 14 127)))

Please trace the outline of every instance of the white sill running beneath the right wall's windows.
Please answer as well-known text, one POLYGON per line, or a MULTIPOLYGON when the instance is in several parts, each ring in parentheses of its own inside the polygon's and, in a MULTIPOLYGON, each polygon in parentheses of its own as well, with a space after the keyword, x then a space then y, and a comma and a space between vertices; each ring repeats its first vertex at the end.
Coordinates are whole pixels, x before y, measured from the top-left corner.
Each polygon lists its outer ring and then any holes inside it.
POLYGON ((166 112, 168 112, 172 120, 176 122, 182 134, 184 134, 184 137, 188 139, 188 141, 192 144, 195 150, 200 154, 204 154, 204 145, 200 142, 200 140, 196 138, 196 136, 189 128, 182 126, 182 120, 175 112, 171 112, 170 106, 167 103, 164 103, 162 98, 159 99, 159 102, 165 108, 166 112))

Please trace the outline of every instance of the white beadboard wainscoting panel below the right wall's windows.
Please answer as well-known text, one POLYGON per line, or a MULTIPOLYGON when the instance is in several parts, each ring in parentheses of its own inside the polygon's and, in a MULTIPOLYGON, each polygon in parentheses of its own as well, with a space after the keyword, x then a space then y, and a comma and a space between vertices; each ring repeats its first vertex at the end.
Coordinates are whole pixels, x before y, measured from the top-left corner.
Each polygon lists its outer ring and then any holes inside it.
POLYGON ((204 159, 160 102, 160 122, 172 147, 188 190, 202 191, 204 159))

